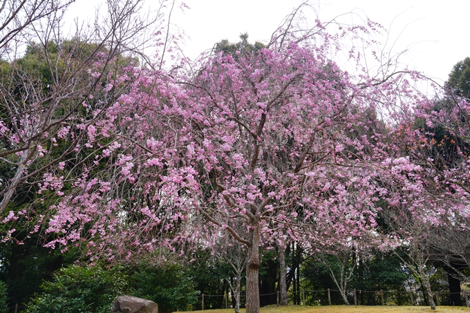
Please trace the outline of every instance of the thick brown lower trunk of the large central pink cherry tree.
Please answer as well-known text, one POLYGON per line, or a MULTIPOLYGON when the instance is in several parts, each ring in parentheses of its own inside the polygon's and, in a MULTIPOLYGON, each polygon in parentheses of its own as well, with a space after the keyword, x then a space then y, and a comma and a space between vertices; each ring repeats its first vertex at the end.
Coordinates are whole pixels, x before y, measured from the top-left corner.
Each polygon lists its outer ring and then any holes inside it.
POLYGON ((250 229, 251 247, 247 255, 247 296, 246 313, 259 313, 259 221, 255 221, 250 229))

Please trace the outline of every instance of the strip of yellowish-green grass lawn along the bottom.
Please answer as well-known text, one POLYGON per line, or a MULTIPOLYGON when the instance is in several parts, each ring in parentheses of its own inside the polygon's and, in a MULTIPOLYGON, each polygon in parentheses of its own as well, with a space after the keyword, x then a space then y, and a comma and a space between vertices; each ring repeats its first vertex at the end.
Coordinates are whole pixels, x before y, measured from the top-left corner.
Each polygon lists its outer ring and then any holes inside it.
MULTIPOLYGON (((193 311, 198 313, 233 313, 233 309, 223 310, 203 310, 193 311)), ((261 307, 261 313, 408 313, 408 312, 433 312, 433 313, 463 313, 469 312, 470 307, 443 307, 438 306, 436 310, 431 310, 429 307, 417 306, 372 306, 372 305, 331 305, 320 307, 309 307, 301 305, 288 305, 283 307, 276 307, 276 305, 268 305, 261 307)), ((245 309, 240 309, 240 313, 245 313, 245 309)))

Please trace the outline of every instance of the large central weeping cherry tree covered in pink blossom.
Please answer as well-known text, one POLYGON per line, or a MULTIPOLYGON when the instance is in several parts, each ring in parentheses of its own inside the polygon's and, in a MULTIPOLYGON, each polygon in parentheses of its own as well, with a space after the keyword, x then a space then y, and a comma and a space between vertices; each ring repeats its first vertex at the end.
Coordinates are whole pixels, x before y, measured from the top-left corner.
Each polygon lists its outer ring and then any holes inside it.
POLYGON ((376 23, 302 30, 298 16, 265 48, 201 57, 194 72, 128 66, 96 85, 100 97, 80 102, 92 118, 75 126, 93 153, 48 168, 41 182, 55 195, 40 216, 53 237, 46 245, 164 260, 209 245, 203 231, 216 227, 245 246, 247 312, 259 313, 261 247, 279 238, 332 244, 330 228, 361 238, 384 208, 417 211, 423 202, 406 203, 424 190, 419 166, 389 137, 429 103, 412 84, 420 75, 382 57, 378 70, 366 66, 363 51, 377 55, 376 23), (335 62, 339 53, 354 75, 335 62))

